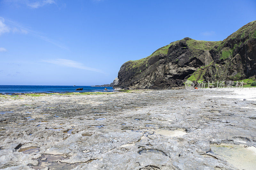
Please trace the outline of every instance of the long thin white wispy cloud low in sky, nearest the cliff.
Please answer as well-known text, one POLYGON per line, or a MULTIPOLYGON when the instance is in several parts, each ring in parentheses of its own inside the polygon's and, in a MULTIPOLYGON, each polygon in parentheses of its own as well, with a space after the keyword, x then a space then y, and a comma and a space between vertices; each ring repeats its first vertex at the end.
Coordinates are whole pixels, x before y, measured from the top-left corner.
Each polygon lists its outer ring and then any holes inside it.
POLYGON ((41 60, 41 61, 46 62, 46 63, 57 64, 60 66, 73 67, 73 68, 77 68, 77 69, 90 70, 90 71, 95 71, 95 72, 99 72, 99 73, 104 73, 99 69, 86 67, 86 66, 84 66, 83 63, 79 63, 79 62, 73 61, 73 60, 66 60, 66 59, 59 58, 59 59, 49 59, 49 60, 41 60))

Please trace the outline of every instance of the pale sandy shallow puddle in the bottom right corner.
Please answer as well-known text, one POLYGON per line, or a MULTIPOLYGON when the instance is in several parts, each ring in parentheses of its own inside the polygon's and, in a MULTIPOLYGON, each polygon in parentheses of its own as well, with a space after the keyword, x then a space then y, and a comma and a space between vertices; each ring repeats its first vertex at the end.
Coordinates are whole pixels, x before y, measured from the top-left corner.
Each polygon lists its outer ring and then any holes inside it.
POLYGON ((211 144, 211 151, 238 169, 253 170, 256 167, 256 148, 253 146, 211 144))

